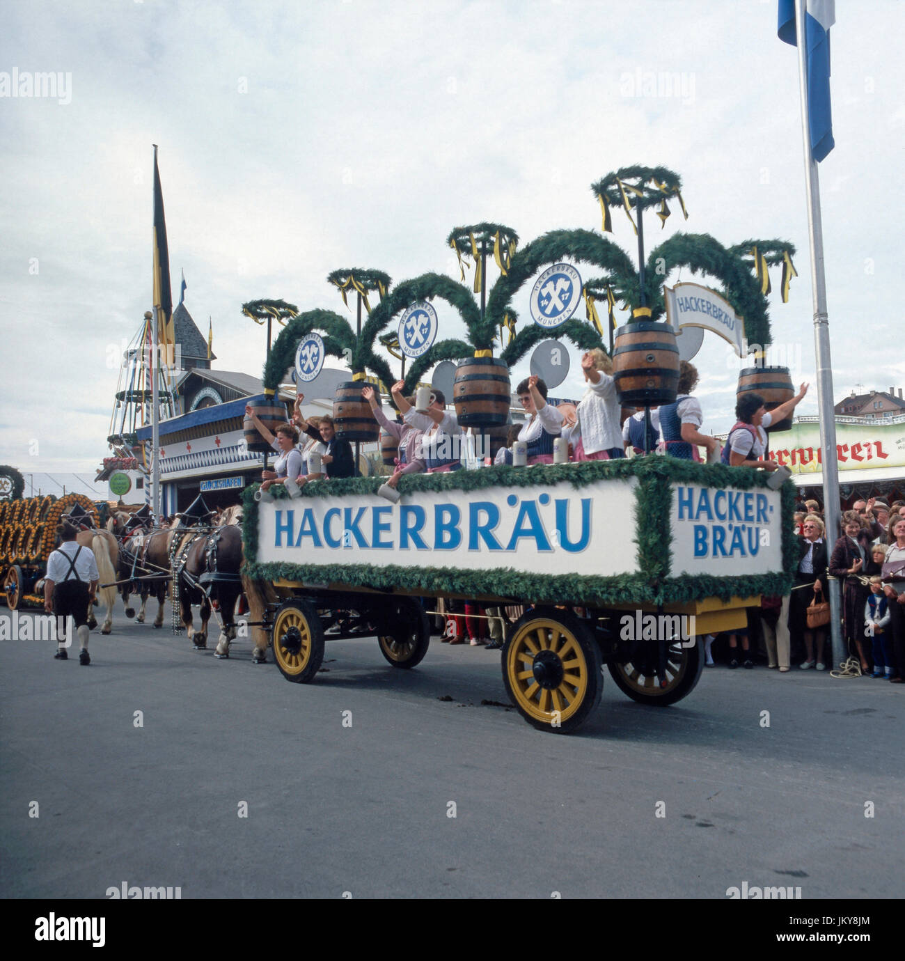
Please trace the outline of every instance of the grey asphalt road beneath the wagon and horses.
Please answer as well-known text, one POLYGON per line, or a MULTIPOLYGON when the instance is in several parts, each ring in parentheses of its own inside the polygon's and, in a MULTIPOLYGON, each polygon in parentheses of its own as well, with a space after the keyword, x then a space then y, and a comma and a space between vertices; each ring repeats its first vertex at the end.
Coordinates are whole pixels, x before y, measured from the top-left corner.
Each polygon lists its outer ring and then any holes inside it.
POLYGON ((376 640, 330 642, 300 685, 248 640, 218 661, 171 634, 169 608, 155 630, 117 604, 89 667, 47 641, 0 651, 4 898, 905 889, 905 685, 718 668, 654 708, 607 676, 562 736, 482 704, 507 700, 499 653, 439 639, 412 671, 376 640))

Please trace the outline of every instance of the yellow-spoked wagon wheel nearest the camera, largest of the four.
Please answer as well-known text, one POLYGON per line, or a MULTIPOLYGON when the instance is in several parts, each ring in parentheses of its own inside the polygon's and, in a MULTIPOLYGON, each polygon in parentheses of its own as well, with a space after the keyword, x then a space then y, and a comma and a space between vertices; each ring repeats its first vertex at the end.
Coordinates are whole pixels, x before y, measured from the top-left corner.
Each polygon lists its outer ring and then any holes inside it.
POLYGON ((528 611, 513 625, 502 652, 506 692, 528 724, 568 733, 599 704, 600 651, 591 630, 552 607, 528 611))

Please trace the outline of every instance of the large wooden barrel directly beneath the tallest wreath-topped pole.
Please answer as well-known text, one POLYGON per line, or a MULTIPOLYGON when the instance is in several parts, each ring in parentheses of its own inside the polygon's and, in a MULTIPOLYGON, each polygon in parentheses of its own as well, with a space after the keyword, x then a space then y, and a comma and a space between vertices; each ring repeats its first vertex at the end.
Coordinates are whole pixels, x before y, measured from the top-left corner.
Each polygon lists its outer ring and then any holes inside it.
POLYGON ((623 407, 672 404, 678 365, 675 332, 668 324, 641 320, 617 329, 613 380, 623 407))

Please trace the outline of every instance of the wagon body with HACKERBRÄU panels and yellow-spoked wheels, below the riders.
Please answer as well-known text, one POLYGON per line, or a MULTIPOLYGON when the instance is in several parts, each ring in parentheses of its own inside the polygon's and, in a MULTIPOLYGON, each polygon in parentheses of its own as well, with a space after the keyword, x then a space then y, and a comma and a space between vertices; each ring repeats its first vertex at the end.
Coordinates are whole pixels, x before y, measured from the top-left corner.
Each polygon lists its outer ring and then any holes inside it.
POLYGON ((428 651, 425 602, 522 604, 502 652, 530 724, 566 732, 599 703, 602 667, 638 702, 700 677, 700 635, 743 628, 788 589, 794 490, 768 475, 673 457, 317 481, 245 495, 246 593, 257 649, 313 680, 325 641, 379 639, 394 667, 428 651))

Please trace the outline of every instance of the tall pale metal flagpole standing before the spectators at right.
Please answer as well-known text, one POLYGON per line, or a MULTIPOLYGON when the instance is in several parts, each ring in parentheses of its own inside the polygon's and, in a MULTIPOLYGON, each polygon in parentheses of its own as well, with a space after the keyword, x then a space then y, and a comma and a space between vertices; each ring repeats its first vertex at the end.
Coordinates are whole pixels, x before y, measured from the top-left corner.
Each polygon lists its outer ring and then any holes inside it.
MULTIPOLYGON (((811 287, 814 298, 814 346, 817 357, 817 399, 820 421, 820 449, 823 457, 823 517, 826 523, 827 555, 839 537, 839 463, 836 456, 836 413, 833 406, 833 368, 830 360, 829 316, 826 309, 826 276, 823 270, 823 224, 820 219, 820 183, 817 160, 811 152, 811 126, 808 109, 807 34, 805 0, 795 0, 795 37, 798 51, 798 92, 801 99, 801 128, 804 137, 804 183, 807 189, 808 236, 811 246, 811 287)), ((847 657, 840 622, 842 604, 840 585, 828 580, 830 638, 833 661, 841 664, 847 657)))

